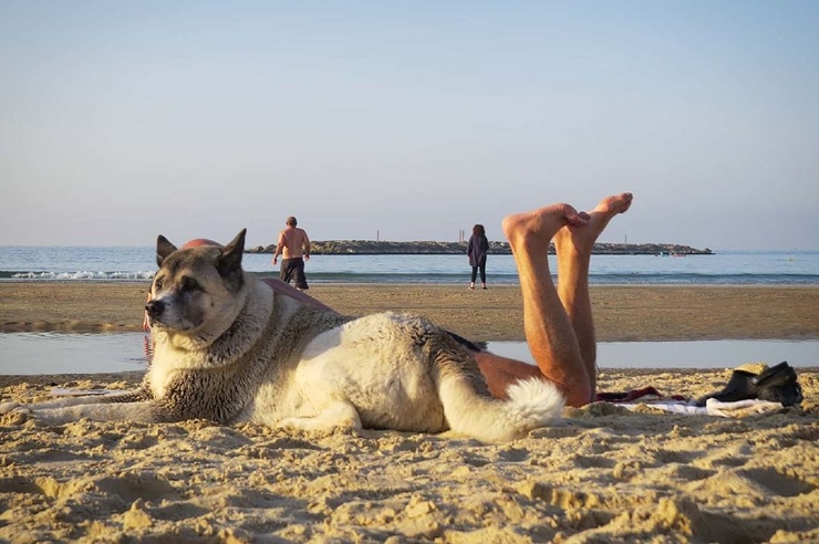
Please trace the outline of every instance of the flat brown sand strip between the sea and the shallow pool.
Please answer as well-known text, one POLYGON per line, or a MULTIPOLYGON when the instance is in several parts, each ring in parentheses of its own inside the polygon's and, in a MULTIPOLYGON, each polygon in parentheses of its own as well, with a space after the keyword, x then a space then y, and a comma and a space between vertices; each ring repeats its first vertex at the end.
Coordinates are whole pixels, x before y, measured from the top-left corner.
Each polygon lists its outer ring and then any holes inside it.
MULTIPOLYGON (((147 283, 0 283, 0 331, 138 331, 147 283)), ((351 315, 426 315, 475 341, 523 341, 517 286, 322 285, 309 293, 351 315)), ((819 338, 819 287, 592 287, 601 342, 819 338)))

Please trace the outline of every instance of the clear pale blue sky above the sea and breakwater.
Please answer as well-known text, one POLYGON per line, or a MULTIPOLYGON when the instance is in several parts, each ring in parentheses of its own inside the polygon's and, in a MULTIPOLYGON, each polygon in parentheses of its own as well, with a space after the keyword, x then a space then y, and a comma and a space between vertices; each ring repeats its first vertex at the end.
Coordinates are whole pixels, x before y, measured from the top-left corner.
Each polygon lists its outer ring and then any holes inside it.
POLYGON ((0 244, 819 250, 819 2, 0 0, 0 244))

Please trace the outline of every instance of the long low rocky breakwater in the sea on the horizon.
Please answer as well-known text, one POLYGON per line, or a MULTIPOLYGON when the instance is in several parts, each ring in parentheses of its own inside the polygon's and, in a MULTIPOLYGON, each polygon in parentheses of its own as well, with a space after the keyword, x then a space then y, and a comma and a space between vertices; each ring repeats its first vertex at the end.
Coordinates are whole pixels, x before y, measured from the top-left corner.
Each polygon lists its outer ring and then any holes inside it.
MULTIPOLYGON (((314 255, 463 255, 466 242, 386 242, 374 240, 328 240, 311 242, 314 255)), ((273 253, 276 244, 257 245, 248 253, 273 253)), ((554 253, 554 247, 550 248, 554 253)), ((595 243, 594 254, 600 255, 711 255, 708 249, 696 249, 676 243, 595 243)), ((511 254, 507 242, 489 242, 490 254, 511 254)))

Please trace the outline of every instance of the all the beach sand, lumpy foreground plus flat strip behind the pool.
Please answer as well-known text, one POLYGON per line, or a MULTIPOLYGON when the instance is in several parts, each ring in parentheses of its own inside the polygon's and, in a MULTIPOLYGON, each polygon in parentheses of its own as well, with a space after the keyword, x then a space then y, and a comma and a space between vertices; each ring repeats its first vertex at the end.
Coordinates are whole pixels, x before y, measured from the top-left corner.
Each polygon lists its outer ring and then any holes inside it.
MULTIPOLYGON (((135 331, 147 284, 0 284, 0 327, 135 331)), ((515 286, 318 285, 351 314, 408 310, 522 339, 515 286)), ((602 341, 819 338, 815 287, 595 287, 602 341)), ((726 362, 726 366, 756 362, 726 362)), ((765 362, 775 364, 778 362, 765 362)), ((696 398, 724 370, 607 370, 599 387, 696 398)), ((0 401, 136 373, 6 376, 0 401)), ((819 370, 800 407, 744 417, 595 402, 529 437, 293 432, 207 421, 0 417, 2 542, 819 542, 819 370)))

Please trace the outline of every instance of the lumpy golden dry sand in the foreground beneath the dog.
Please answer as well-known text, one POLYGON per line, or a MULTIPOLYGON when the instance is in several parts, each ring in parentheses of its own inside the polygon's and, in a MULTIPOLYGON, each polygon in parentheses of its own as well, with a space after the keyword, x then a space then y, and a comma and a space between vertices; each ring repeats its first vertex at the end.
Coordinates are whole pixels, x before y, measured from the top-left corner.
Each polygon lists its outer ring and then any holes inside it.
MULTIPOLYGON (((624 372, 601 384, 707 393, 726 376, 624 372)), ((206 421, 49 427, 7 415, 0 540, 816 542, 817 376, 800 376, 804 409, 734 420, 598 404, 497 446, 206 421)), ((77 384, 128 385, 66 385, 77 384)))

